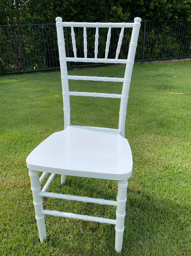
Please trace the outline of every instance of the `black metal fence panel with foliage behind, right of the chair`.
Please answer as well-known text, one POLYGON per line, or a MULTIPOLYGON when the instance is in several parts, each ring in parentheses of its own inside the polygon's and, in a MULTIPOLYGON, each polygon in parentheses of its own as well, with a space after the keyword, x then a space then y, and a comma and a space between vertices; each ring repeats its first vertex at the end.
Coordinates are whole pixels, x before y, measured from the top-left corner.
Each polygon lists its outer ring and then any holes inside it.
POLYGON ((190 56, 190 29, 190 21, 147 22, 144 60, 190 56))

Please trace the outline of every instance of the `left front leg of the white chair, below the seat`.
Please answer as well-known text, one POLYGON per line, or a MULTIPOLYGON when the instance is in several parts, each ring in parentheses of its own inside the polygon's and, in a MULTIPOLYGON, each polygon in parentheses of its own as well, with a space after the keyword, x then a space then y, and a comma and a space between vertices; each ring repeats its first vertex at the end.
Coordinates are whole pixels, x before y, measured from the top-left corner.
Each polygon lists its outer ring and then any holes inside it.
POLYGON ((39 172, 34 170, 29 170, 29 176, 31 179, 31 190, 33 193, 33 204, 35 208, 35 218, 38 226, 38 233, 40 237, 40 242, 46 241, 46 228, 43 210, 43 199, 42 196, 39 196, 41 191, 39 172))

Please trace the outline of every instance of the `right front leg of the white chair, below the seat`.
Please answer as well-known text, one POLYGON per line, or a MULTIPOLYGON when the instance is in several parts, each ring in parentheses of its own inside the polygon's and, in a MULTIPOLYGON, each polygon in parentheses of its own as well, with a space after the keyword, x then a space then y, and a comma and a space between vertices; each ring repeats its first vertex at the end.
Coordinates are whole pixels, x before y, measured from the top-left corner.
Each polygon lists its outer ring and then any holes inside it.
POLYGON ((119 180, 117 190, 117 209, 116 209, 116 225, 115 225, 115 250, 120 252, 123 242, 125 206, 127 201, 127 186, 128 181, 119 180))

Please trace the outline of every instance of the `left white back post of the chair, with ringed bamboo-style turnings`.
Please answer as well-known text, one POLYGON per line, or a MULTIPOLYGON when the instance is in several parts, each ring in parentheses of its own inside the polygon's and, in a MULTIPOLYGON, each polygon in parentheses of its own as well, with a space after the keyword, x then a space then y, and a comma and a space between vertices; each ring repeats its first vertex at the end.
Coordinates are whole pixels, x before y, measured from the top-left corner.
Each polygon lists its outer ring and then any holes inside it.
MULTIPOLYGON (((63 105, 64 105, 64 129, 70 125, 70 96, 69 96, 69 85, 67 78, 67 63, 66 63, 66 51, 65 51, 65 42, 64 32, 62 27, 62 18, 56 18, 56 28, 58 36, 58 50, 59 50, 59 60, 60 60, 60 71, 61 71, 61 80, 62 80, 62 95, 63 95, 63 105)), ((67 31, 65 31, 67 33, 67 31)))

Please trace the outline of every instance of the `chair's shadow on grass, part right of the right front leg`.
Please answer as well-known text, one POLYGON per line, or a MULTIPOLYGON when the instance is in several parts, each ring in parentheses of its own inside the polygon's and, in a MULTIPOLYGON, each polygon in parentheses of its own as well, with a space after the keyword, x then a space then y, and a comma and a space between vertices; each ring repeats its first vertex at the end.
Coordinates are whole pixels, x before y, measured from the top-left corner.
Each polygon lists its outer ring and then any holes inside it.
MULTIPOLYGON (((126 215, 123 252, 141 252, 141 248, 150 248, 153 254, 150 251, 144 255, 180 255, 184 251, 182 241, 189 239, 190 220, 183 205, 175 200, 128 190, 126 215), (160 253, 157 253, 159 248, 160 253)), ((190 240, 188 248, 189 244, 190 240)))

